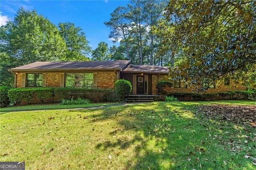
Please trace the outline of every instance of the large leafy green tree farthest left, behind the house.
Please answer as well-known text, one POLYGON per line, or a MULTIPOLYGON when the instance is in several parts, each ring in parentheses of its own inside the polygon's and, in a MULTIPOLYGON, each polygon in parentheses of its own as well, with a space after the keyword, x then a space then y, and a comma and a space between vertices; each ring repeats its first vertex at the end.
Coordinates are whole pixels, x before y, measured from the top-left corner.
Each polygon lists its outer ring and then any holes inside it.
POLYGON ((58 29, 36 11, 18 10, 14 21, 1 27, 1 46, 15 65, 36 61, 60 61, 66 45, 58 29))

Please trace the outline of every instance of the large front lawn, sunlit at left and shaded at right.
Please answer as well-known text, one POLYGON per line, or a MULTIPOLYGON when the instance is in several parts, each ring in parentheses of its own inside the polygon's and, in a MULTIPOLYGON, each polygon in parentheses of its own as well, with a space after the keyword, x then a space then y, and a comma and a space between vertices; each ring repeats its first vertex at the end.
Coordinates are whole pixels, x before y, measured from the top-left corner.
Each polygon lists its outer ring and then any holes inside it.
POLYGON ((255 169, 244 158, 256 156, 255 128, 196 117, 202 104, 212 102, 4 113, 0 161, 25 161, 26 169, 255 169))

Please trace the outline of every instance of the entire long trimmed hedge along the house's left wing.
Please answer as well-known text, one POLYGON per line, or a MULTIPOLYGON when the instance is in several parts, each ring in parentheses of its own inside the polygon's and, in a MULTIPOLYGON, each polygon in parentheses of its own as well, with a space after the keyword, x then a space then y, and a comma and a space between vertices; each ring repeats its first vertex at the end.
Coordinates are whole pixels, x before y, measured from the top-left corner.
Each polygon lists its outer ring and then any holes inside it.
POLYGON ((113 89, 81 89, 70 87, 39 87, 39 88, 16 88, 8 91, 10 101, 20 105, 22 101, 30 104, 38 100, 41 103, 57 102, 60 99, 84 98, 92 102, 114 102, 117 101, 113 89))

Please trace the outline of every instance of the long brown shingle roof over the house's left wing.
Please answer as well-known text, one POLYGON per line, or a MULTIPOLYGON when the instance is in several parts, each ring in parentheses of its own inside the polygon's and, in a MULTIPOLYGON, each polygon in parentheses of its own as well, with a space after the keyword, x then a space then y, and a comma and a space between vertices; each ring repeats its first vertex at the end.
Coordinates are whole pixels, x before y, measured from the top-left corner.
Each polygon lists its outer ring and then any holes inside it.
POLYGON ((9 71, 122 70, 130 60, 120 61, 39 61, 9 71))

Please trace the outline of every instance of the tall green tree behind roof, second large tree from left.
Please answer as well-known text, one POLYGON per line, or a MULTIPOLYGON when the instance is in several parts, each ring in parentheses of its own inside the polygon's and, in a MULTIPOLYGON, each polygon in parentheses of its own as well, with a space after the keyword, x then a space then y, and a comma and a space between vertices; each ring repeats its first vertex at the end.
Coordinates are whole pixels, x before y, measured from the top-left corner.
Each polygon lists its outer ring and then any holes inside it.
POLYGON ((82 29, 70 22, 60 23, 58 26, 67 46, 65 61, 88 61, 86 55, 90 53, 91 47, 82 29))

